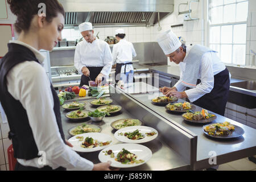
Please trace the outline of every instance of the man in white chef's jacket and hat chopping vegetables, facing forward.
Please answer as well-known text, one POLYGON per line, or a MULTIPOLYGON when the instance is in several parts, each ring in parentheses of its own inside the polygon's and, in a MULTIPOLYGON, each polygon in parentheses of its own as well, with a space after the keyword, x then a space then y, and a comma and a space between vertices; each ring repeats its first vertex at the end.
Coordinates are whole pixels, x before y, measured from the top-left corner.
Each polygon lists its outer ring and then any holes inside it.
POLYGON ((80 86, 89 85, 90 80, 97 85, 104 80, 105 83, 113 61, 109 44, 93 35, 90 22, 81 23, 79 30, 85 39, 77 44, 74 58, 75 67, 82 74, 80 86))

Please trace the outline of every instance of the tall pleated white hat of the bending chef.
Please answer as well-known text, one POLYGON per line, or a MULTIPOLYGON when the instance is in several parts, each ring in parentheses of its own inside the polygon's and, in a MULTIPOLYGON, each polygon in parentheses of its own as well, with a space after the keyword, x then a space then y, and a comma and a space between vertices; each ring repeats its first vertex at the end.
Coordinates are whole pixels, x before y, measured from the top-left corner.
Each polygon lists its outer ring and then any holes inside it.
POLYGON ((181 46, 179 38, 171 30, 160 34, 157 41, 165 55, 170 55, 170 53, 176 51, 181 46))

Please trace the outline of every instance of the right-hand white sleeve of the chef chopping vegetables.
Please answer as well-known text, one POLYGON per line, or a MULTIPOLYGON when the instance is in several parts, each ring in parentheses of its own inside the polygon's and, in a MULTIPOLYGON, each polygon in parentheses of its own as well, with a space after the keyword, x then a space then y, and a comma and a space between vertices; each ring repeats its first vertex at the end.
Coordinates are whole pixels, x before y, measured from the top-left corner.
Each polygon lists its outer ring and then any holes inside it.
POLYGON ((111 68, 112 68, 113 56, 110 51, 109 44, 106 43, 105 45, 106 46, 105 46, 104 59, 103 59, 104 67, 102 68, 101 73, 105 76, 109 76, 109 73, 111 72, 111 68))

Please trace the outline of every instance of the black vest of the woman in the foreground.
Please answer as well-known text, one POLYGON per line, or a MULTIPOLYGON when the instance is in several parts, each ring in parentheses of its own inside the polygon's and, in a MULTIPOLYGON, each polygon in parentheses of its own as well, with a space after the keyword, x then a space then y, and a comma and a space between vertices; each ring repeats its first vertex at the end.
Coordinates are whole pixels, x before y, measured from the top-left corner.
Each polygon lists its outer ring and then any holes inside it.
MULTIPOLYGON (((8 119, 10 127, 9 138, 13 142, 14 157, 30 160, 38 157, 38 147, 36 147, 35 139, 32 135, 26 110, 20 101, 15 100, 7 90, 6 75, 16 64, 24 61, 36 61, 39 63, 39 61, 30 49, 20 44, 9 43, 8 48, 9 52, 0 60, 0 102, 8 119)), ((60 101, 52 84, 51 90, 57 126, 59 127, 61 138, 65 143, 60 115, 60 101)))

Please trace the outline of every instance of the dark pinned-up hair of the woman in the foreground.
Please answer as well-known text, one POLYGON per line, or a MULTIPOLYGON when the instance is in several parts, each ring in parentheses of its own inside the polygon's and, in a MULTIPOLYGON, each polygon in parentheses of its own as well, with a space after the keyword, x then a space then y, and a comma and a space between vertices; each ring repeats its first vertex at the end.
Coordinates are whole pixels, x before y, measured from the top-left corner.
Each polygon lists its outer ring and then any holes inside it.
POLYGON ((18 33, 22 30, 24 32, 29 30, 32 18, 42 8, 39 6, 40 3, 46 5, 46 21, 48 23, 51 23, 58 13, 65 17, 63 6, 57 0, 7 0, 7 3, 10 5, 11 12, 17 16, 14 26, 18 33))

